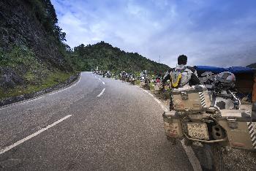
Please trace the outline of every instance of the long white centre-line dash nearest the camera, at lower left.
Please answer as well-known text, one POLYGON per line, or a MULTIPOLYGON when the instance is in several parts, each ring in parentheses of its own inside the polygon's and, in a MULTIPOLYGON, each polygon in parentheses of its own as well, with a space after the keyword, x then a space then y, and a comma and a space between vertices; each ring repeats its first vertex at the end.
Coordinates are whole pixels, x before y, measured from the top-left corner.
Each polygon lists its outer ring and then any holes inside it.
POLYGON ((14 144, 12 144, 12 145, 10 145, 10 146, 8 146, 8 147, 2 149, 2 150, 0 151, 0 154, 5 153, 5 152, 7 152, 7 151, 10 151, 12 148, 15 148, 17 145, 20 145, 20 144, 22 144, 23 142, 26 142, 27 140, 30 140, 32 137, 35 137, 35 136, 37 136, 38 134, 40 134, 40 133, 42 133, 42 132, 45 132, 47 129, 49 129, 49 128, 53 127, 53 126, 56 126, 56 124, 58 124, 58 123, 64 121, 65 119, 69 118, 70 116, 72 116, 72 115, 67 115, 67 116, 65 116, 64 118, 61 118, 59 121, 56 121, 56 122, 54 122, 54 123, 52 123, 52 124, 46 126, 45 128, 40 129, 38 132, 35 132, 34 134, 31 134, 31 135, 29 135, 28 137, 25 137, 25 138, 23 138, 22 140, 19 140, 18 142, 15 142, 14 144))

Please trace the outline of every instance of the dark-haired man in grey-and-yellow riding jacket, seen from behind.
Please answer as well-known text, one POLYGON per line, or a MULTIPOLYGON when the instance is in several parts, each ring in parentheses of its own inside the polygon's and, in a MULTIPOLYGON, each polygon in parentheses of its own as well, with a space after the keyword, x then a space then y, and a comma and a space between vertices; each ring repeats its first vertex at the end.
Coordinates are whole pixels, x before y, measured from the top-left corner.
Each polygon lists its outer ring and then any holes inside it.
POLYGON ((180 88, 183 86, 195 86, 200 84, 197 77, 197 71, 187 66, 187 56, 178 56, 178 65, 176 68, 169 69, 163 77, 162 83, 170 80, 171 88, 180 88))

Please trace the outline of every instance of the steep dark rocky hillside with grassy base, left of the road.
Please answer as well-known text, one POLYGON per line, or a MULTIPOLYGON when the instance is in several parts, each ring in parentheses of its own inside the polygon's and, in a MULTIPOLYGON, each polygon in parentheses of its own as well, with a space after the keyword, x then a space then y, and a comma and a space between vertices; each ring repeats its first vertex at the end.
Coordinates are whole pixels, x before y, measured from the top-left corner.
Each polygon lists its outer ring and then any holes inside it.
POLYGON ((50 0, 0 1, 0 99, 67 79, 73 69, 50 0))

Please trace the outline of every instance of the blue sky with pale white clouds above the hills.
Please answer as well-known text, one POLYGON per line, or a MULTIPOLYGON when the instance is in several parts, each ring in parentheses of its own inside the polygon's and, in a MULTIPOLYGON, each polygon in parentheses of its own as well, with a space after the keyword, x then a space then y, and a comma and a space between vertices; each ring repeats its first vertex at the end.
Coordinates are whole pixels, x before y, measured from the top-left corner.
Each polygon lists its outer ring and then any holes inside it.
POLYGON ((256 62, 255 0, 51 0, 67 44, 113 47, 168 66, 256 62))

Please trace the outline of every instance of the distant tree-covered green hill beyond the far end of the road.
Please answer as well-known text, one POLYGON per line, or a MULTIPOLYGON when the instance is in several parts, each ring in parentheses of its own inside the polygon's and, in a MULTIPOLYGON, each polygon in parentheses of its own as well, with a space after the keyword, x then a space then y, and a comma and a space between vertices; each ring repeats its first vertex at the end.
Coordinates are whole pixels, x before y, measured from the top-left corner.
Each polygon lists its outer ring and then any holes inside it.
POLYGON ((79 70, 91 71, 99 66, 101 70, 140 72, 148 70, 154 73, 165 73, 169 66, 151 61, 138 53, 127 53, 106 42, 95 45, 79 45, 74 48, 72 63, 79 70))

